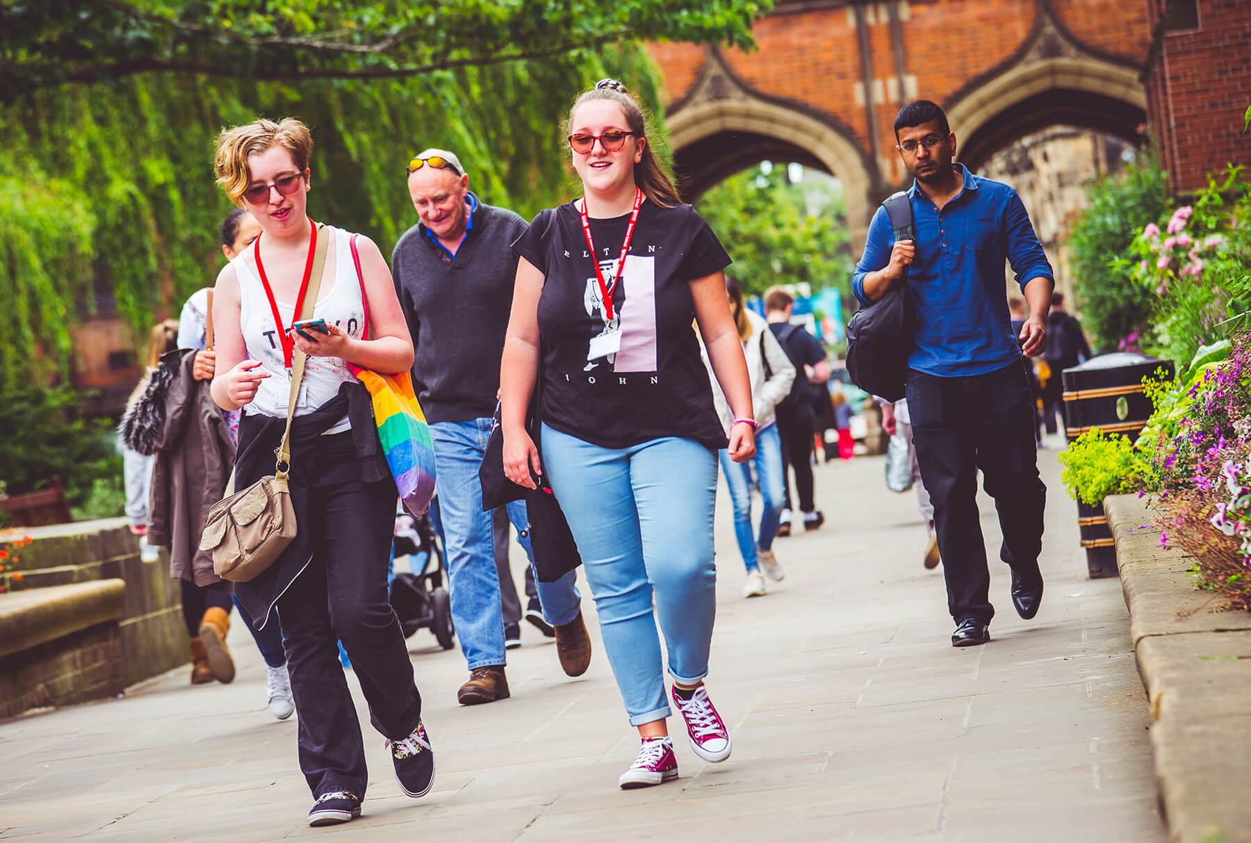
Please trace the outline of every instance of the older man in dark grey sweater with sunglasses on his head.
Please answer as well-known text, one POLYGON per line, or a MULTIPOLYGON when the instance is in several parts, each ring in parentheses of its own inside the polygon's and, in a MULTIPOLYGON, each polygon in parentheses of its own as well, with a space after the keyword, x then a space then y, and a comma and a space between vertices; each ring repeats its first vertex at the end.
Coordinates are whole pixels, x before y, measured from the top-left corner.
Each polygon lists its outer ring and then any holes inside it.
MULTIPOLYGON (((445 150, 428 149, 409 161, 408 190, 420 223, 395 244, 392 274, 413 336, 413 386, 434 439, 452 619, 469 664, 458 699, 472 705, 509 695, 493 515, 482 510, 478 468, 513 304, 512 243, 525 221, 469 193, 469 176, 445 150)), ((508 504, 508 515, 533 565, 525 503, 508 504)), ((555 628, 560 665, 580 674, 590 662, 590 639, 574 574, 539 583, 538 594, 555 628)))

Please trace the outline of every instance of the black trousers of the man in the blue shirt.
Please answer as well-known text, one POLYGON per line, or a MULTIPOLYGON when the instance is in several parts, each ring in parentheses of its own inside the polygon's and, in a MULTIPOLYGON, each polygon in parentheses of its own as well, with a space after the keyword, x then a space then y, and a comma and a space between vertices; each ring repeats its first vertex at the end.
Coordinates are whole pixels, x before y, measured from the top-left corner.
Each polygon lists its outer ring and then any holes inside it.
POLYGON ((1047 488, 1038 477, 1030 381, 1020 363, 960 378, 909 369, 907 395, 921 480, 934 504, 947 608, 957 622, 990 623, 995 607, 977 512, 978 469, 1000 515, 1000 558, 1033 575, 1042 552, 1047 488))

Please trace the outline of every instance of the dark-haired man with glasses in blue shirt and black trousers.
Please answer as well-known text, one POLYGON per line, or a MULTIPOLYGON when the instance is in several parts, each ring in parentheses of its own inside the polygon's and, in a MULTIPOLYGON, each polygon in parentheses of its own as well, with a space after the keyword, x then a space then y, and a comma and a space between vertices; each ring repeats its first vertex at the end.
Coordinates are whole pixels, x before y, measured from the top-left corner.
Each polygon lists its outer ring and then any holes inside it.
POLYGON ((934 502, 952 645, 990 640, 995 608, 977 512, 977 470, 1003 532, 1000 558, 1012 568, 1012 603, 1025 619, 1042 602, 1042 512, 1033 401, 1022 354, 1041 354, 1055 286, 1051 264, 1016 190, 953 164, 947 115, 918 100, 899 110, 894 136, 916 179, 908 196, 916 240, 892 243, 884 209, 869 225, 852 276, 862 305, 907 284, 917 324, 907 399, 921 477, 934 502), (1008 316, 1003 261, 1030 303, 1017 335, 1008 316), (1020 344, 1018 344, 1020 340, 1020 344))

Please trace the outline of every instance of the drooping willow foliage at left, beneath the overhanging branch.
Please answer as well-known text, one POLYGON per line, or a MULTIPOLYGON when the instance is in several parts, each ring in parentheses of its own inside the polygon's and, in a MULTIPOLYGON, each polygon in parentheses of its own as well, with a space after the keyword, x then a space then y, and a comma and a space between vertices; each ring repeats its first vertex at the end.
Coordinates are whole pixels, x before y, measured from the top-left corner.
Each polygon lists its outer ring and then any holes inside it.
MULTIPOLYGON (((659 78, 636 45, 582 61, 299 89, 149 74, 0 105, 0 300, 13 303, 0 393, 33 370, 64 380, 73 325, 98 299, 141 338, 213 283, 216 228, 230 209, 211 170, 221 126, 258 114, 304 119, 315 141, 314 219, 363 231, 389 254, 417 223, 404 164, 424 146, 455 150, 470 189, 527 219, 570 198, 560 121, 605 75, 658 110, 659 78)), ((663 130, 653 141, 667 154, 663 130)))

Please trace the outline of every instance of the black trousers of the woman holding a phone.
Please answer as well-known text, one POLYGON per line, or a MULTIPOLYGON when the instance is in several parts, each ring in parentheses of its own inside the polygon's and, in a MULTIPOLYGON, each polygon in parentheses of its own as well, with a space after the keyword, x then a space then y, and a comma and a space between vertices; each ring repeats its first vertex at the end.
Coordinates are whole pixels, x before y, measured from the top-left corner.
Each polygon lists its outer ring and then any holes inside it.
POLYGON ((313 532, 313 558, 279 598, 278 617, 309 789, 314 797, 343 789, 364 798, 365 750, 337 642, 348 650, 369 720, 383 735, 408 737, 422 698, 388 598, 395 484, 362 483, 350 433, 324 439, 300 455, 315 463, 309 507, 315 517, 299 523, 313 532))

